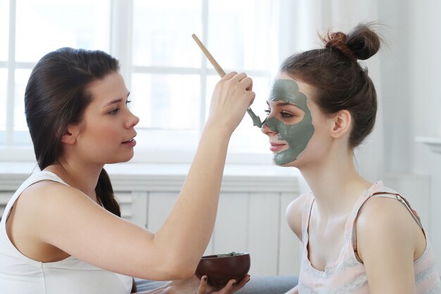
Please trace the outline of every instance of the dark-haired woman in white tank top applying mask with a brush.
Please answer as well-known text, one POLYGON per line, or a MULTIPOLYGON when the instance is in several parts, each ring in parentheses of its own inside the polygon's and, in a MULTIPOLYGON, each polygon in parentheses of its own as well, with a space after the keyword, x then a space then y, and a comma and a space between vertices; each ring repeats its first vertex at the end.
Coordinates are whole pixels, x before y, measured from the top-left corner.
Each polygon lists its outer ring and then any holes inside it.
MULTIPOLYGON (((252 81, 229 73, 213 92, 199 148, 175 206, 156 233, 120 218, 104 164, 132 158, 139 118, 118 61, 62 48, 35 66, 25 91, 39 171, 0 223, 0 293, 130 293, 132 277, 171 281, 149 293, 234 293, 194 271, 216 219, 228 141, 254 99, 252 81), (200 287, 199 287, 200 283, 200 287)), ((233 286, 233 283, 237 283, 233 286)))

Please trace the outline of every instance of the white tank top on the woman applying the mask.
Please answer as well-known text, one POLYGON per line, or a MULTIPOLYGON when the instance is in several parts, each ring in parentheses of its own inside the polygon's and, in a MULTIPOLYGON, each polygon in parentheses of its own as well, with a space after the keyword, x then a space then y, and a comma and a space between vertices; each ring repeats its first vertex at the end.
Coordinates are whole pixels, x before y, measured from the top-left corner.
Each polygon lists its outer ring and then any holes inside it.
POLYGON ((0 293, 2 294, 128 294, 132 277, 95 267, 75 257, 38 262, 25 257, 8 238, 6 219, 20 194, 41 180, 66 183, 49 171, 32 174, 6 205, 0 222, 0 293))

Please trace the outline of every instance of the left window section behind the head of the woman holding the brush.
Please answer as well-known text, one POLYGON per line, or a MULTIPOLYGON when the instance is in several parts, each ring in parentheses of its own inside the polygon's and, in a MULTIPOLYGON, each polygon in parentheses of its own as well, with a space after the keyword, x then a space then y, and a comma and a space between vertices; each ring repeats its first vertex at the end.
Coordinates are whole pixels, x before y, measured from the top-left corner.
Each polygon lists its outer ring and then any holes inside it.
POLYGON ((60 47, 108 51, 111 6, 107 0, 11 0, 0 5, 0 37, 11 42, 6 52, 0 51, 0 94, 7 97, 0 99, 0 113, 5 114, 0 118, 0 145, 30 147, 23 97, 32 68, 60 47))

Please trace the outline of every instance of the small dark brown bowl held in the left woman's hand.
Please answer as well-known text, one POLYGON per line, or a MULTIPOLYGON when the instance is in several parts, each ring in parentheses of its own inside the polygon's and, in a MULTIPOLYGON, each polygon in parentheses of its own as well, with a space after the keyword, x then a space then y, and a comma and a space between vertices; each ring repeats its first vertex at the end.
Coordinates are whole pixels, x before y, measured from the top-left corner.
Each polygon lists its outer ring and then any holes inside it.
POLYGON ((248 274, 251 261, 249 253, 231 252, 225 255, 207 255, 201 258, 196 276, 208 276, 209 286, 223 287, 234 278, 237 282, 248 274))

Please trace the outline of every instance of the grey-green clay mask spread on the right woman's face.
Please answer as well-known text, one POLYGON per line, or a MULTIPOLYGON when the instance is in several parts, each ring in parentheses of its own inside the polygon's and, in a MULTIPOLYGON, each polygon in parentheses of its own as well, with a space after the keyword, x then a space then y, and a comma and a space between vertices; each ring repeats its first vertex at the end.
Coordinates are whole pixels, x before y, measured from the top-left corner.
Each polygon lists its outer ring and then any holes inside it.
POLYGON ((306 95, 299 92, 299 86, 294 80, 275 80, 268 101, 295 104, 304 111, 302 121, 292 125, 286 125, 275 117, 268 117, 263 122, 270 130, 278 133, 278 140, 286 141, 289 147, 275 154, 275 164, 288 164, 299 157, 314 133, 311 111, 306 104, 306 95))

